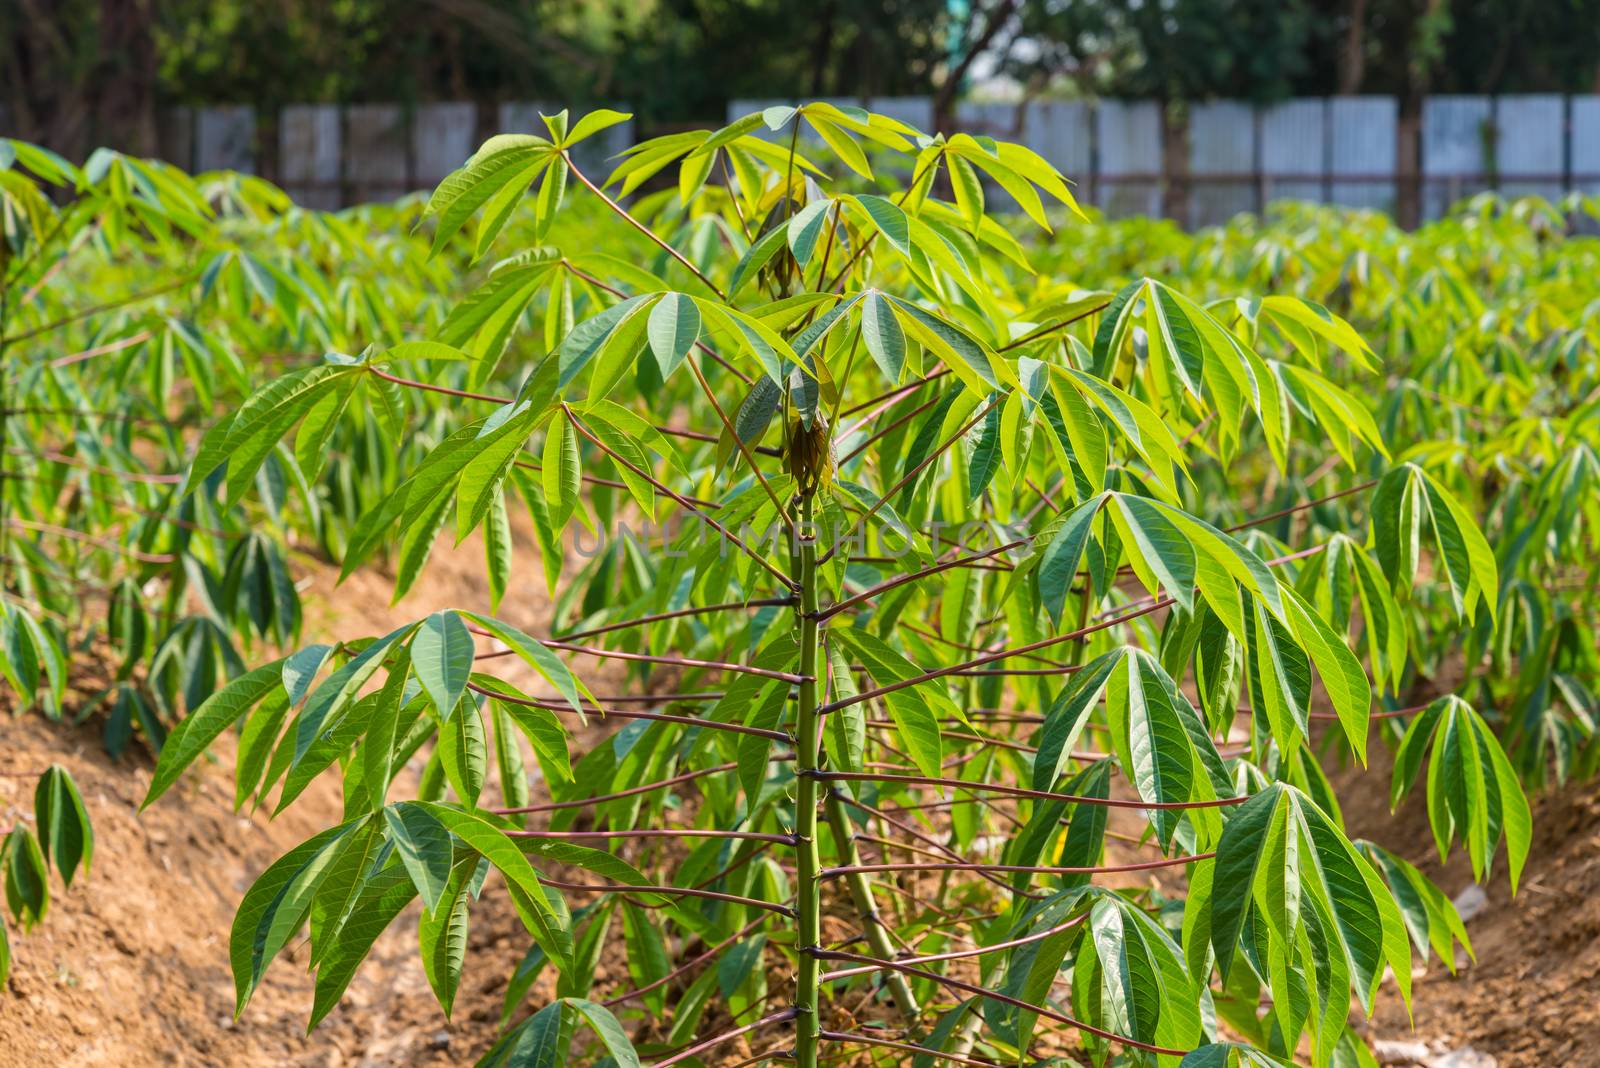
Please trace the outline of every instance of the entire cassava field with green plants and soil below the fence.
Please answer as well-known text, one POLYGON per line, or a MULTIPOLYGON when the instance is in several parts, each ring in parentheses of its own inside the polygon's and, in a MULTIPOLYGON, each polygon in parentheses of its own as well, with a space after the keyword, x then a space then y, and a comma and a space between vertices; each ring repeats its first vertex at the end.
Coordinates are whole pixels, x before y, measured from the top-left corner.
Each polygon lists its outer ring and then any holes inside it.
POLYGON ((0 141, 0 1063, 1600 1055, 1592 205, 619 118, 0 141))

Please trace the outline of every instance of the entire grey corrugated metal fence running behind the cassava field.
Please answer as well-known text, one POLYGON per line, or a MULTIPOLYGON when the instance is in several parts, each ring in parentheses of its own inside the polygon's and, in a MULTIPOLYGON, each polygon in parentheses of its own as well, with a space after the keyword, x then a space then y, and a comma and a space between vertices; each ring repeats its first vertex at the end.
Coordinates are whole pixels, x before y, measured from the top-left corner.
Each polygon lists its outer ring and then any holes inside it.
MULTIPOLYGON (((728 112, 773 102, 734 101, 728 112)), ((928 98, 838 102, 933 126, 928 98)), ((160 149, 184 168, 262 174, 301 203, 338 208, 430 189, 491 133, 542 131, 541 110, 555 109, 306 104, 270 122, 240 106, 173 109, 162 115, 160 149)), ((1178 130, 1147 101, 965 102, 954 120, 1035 149, 1112 216, 1171 214, 1186 225, 1278 198, 1400 209, 1414 221, 1485 189, 1600 192, 1600 96, 1434 96, 1419 123, 1402 122, 1382 96, 1213 101, 1190 106, 1178 130)), ((579 145, 579 160, 602 169, 634 136, 634 123, 613 126, 579 145)))

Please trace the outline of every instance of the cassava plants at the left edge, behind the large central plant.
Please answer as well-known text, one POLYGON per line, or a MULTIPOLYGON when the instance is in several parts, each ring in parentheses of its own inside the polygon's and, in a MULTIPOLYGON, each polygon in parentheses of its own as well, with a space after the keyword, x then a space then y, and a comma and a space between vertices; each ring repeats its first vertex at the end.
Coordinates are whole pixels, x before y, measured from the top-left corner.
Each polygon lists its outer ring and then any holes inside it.
MULTIPOLYGON (((314 489, 315 472, 286 451, 262 465, 254 515, 176 492, 186 428, 250 393, 242 352, 342 344, 344 331, 394 326, 424 301, 400 273, 403 286, 374 302, 363 283, 379 288, 395 270, 390 243, 288 208, 256 179, 190 179, 114 152, 80 168, 0 141, 3 703, 51 719, 98 715, 114 758, 134 739, 158 750, 184 711, 245 670, 253 643, 298 640, 277 520, 309 515, 299 529, 320 542, 360 508, 314 489), (334 238, 354 288, 331 285, 323 265, 278 259, 286 245, 334 238)), ((418 265, 424 251, 402 248, 418 265)), ((360 444, 360 428, 347 436, 360 444)), ((56 857, 70 886, 93 831, 66 769, 18 759, 0 774, 38 779, 37 833, 11 830, 3 863, 11 919, 27 931, 50 902, 46 862, 56 857)), ((5 943, 0 983, 8 972, 5 943)))

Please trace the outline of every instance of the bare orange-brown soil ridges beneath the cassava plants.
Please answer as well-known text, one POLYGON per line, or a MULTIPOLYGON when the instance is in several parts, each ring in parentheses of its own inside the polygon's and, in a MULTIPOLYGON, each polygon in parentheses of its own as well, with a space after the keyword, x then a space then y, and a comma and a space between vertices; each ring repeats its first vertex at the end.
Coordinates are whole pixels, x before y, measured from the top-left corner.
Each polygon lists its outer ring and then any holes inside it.
MULTIPOLYGON (((533 555, 531 545, 518 539, 518 556, 531 561, 533 555)), ((358 574, 334 590, 328 568, 306 563, 306 641, 384 633, 437 608, 488 603, 477 539, 459 550, 442 544, 418 588, 397 608, 389 604, 390 585, 382 574, 358 574)), ((536 571, 520 569, 504 611, 534 633, 549 606, 536 571)), ((586 671, 586 678, 594 676, 613 692, 627 684, 614 665, 586 671)), ((606 734, 610 727, 592 724, 574 737, 573 748, 582 751, 606 734)), ((434 1001, 418 961, 416 905, 378 940, 344 1002, 314 1034, 304 1031, 312 1001, 312 978, 298 967, 306 961, 304 945, 294 945, 267 970, 243 1017, 234 1020, 227 937, 237 902, 267 863, 338 820, 338 783, 331 777, 277 820, 259 812, 234 814, 232 750, 230 739, 224 739, 214 761, 192 769, 141 815, 138 803, 152 761, 136 747, 110 761, 96 723, 72 729, 37 716, 0 718, 0 737, 8 771, 64 764, 83 791, 96 833, 88 876, 64 892, 54 883, 48 918, 32 932, 13 935, 13 975, 0 991, 0 1068, 459 1065, 475 1060, 496 1039, 506 980, 526 951, 528 937, 493 881, 472 911, 469 961, 451 1020, 434 1001)), ((34 777, 0 777, 0 827, 32 819, 32 783, 34 777)), ((1421 796, 1390 819, 1381 756, 1373 769, 1344 772, 1338 783, 1352 836, 1365 835, 1400 852, 1446 892, 1470 883, 1462 855, 1438 865, 1421 796)), ((1534 833, 1518 895, 1509 894, 1502 860, 1488 887, 1488 905, 1467 924, 1478 964, 1451 977, 1442 962, 1430 961, 1416 982, 1414 1031, 1390 990, 1373 1022, 1363 1025, 1373 1038, 1395 1049, 1418 1041, 1434 1052, 1470 1047, 1493 1057, 1499 1068, 1600 1063, 1600 1044, 1589 1038, 1600 1033, 1595 787, 1568 787, 1539 798, 1534 833)), ((1112 863, 1146 859, 1123 843, 1112 843, 1109 852, 1112 863)), ((1146 881, 1171 878, 1163 873, 1146 881)), ((912 892, 933 897, 936 879, 912 886, 912 892)), ((896 899, 893 907, 910 905, 896 899)), ((845 907, 830 913, 824 934, 848 938, 856 924, 845 907)), ((597 994, 629 985, 619 945, 602 961, 597 994)), ((533 990, 530 1006, 550 996, 549 982, 533 990)), ((789 982, 782 954, 770 951, 768 986, 779 991, 789 982)), ((829 1026, 837 1030, 883 1018, 882 999, 870 994, 856 993, 834 1006, 829 1026)), ((714 1020, 707 1028, 720 1030, 714 1020)), ((659 1022, 645 1026, 656 1038, 662 1030, 659 1022)), ((733 1063, 750 1052, 744 1041, 733 1042, 714 1063, 733 1063)))

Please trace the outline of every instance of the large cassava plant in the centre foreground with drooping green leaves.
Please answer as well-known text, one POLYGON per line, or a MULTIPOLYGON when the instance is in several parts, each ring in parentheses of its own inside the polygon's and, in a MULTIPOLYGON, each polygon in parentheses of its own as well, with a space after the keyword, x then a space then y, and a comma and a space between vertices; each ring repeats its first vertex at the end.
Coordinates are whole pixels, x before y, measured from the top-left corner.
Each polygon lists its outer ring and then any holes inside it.
POLYGON ((1418 560, 1454 627, 1499 577, 1390 462, 1378 355, 1288 294, 1040 275, 990 205, 1046 233, 1077 206, 1019 145, 806 104, 574 165, 621 118, 488 141, 427 205, 437 254, 491 264, 443 321, 267 376, 197 446, 182 492, 234 505, 366 385, 456 412, 342 563, 389 555, 402 595, 482 531, 493 601, 264 664, 173 731, 146 804, 234 724, 242 804, 341 775, 342 822, 240 903, 238 1010, 309 927, 315 1025, 421 899, 450 1012, 502 894, 531 938, 506 1022, 544 1004, 488 1065, 1370 1057, 1352 994, 1410 998, 1413 950, 1466 934, 1346 836, 1312 742, 1365 759, 1410 721, 1445 843, 1504 843, 1515 884, 1530 839, 1478 713, 1392 699, 1418 560), (1267 476, 1346 483, 1210 521, 1267 476), (1256 529, 1333 502, 1320 540, 1256 529), (514 504, 538 636, 498 616, 514 504), (597 692, 606 660, 629 679, 597 692))

